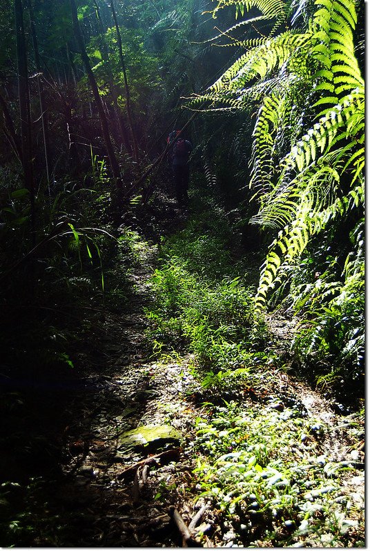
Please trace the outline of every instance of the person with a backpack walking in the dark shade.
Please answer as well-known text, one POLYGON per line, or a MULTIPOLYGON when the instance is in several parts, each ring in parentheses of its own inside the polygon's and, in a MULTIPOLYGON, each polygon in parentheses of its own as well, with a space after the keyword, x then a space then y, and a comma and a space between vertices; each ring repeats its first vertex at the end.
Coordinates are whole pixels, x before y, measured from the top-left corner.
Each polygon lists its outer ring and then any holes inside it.
POLYGON ((175 181, 176 199, 179 204, 188 201, 188 187, 190 178, 189 157, 192 146, 190 141, 181 137, 180 130, 174 130, 168 136, 168 143, 176 137, 170 154, 173 178, 175 181))

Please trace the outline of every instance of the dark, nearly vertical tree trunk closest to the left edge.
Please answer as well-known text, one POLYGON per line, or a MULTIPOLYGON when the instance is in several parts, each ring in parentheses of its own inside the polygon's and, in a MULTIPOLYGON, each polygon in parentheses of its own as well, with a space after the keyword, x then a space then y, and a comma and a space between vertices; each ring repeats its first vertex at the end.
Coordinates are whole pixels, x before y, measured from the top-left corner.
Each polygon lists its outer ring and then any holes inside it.
POLYGON ((25 186, 30 192, 31 232, 32 240, 35 241, 35 183, 32 170, 30 88, 28 85, 28 65, 26 55, 26 40, 24 37, 22 0, 14 0, 14 15, 17 36, 17 67, 19 88, 19 113, 21 116, 22 163, 25 186))

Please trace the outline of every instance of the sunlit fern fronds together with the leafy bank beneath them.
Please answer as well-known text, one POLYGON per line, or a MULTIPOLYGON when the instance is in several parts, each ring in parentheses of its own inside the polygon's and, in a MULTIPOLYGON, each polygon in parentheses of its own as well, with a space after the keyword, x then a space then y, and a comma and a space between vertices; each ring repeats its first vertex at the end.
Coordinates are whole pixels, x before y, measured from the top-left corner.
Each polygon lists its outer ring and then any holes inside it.
MULTIPOLYGON (((302 318, 295 349, 331 382, 361 377, 364 362, 364 80, 355 2, 235 4, 257 8, 223 37, 242 54, 205 94, 208 110, 255 114, 249 222, 271 228, 256 307, 286 296, 302 318), (259 38, 235 37, 260 28, 259 38), (362 67, 362 69, 361 69, 362 67), (324 237, 324 247, 320 237, 324 237), (277 289, 277 290, 276 290, 277 289), (326 364, 326 365, 324 365, 326 364)), ((362 37, 363 38, 363 37, 362 37)))

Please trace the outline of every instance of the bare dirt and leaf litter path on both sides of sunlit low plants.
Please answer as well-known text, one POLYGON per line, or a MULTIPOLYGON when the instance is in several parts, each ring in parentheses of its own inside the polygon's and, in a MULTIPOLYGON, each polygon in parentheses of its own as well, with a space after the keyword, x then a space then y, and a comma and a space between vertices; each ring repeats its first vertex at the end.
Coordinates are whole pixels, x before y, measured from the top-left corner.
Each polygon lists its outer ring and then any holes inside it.
MULTIPOLYGON (((167 363, 150 359, 144 338, 147 322, 143 305, 150 296, 148 277, 155 254, 155 248, 142 251, 142 267, 133 276, 137 294, 132 311, 109 314, 95 328, 100 349, 95 370, 95 351, 90 350, 84 359, 87 384, 75 393, 70 410, 75 422, 64 432, 66 476, 54 488, 54 505, 69 524, 68 534, 63 535, 64 545, 181 546, 171 506, 177 508, 186 525, 199 510, 198 523, 203 529, 220 524, 209 532, 209 537, 198 540, 198 545, 230 546, 237 541, 220 511, 210 501, 199 499, 202 492, 192 474, 195 419, 204 411, 194 399, 201 388, 189 369, 191 357, 167 363), (180 442, 159 441, 150 449, 140 445, 125 448, 122 434, 142 425, 171 425, 181 434, 180 442), (149 460, 147 466, 145 459, 149 460)), ((275 337, 284 348, 278 328, 275 337)), ((331 404, 304 383, 284 373, 275 375, 278 383, 269 390, 282 408, 286 399, 293 397, 318 424, 331 425, 317 453, 324 454, 328 462, 358 463, 359 469, 347 477, 345 491, 354 495, 361 507, 363 453, 353 448, 354 439, 347 431, 351 419, 343 420, 335 414, 331 404)), ((250 408, 251 402, 246 399, 245 405, 250 408)))

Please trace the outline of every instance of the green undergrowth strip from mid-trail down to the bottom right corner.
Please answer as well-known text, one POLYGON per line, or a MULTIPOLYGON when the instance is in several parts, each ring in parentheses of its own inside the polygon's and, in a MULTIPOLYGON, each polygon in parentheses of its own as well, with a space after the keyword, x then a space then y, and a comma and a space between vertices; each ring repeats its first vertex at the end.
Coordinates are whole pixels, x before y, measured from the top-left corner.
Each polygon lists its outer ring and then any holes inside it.
MULTIPOLYGON (((323 451, 331 426, 309 417, 298 398, 275 392, 284 365, 255 316, 246 266, 233 262, 233 228, 222 212, 215 217, 215 203, 204 194, 193 197, 192 208, 186 228, 162 241, 147 336, 164 360, 192 352, 200 397, 208 400, 190 442, 195 500, 211 501, 219 521, 233 527, 233 546, 363 546, 362 501, 347 487, 356 459, 337 461, 332 450, 323 451)), ((320 309, 313 300, 320 288, 315 277, 304 288, 301 276, 296 300, 286 306, 302 308, 299 297, 305 300, 309 320, 320 309)), ((310 339, 307 332, 302 354, 310 339)), ((347 437, 362 438, 361 414, 344 425, 347 437)), ((214 529, 204 528, 208 535, 214 529)), ((202 530, 198 535, 208 541, 202 530)))

